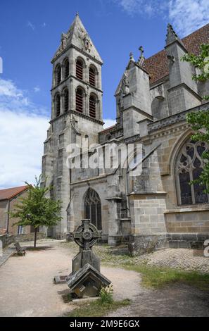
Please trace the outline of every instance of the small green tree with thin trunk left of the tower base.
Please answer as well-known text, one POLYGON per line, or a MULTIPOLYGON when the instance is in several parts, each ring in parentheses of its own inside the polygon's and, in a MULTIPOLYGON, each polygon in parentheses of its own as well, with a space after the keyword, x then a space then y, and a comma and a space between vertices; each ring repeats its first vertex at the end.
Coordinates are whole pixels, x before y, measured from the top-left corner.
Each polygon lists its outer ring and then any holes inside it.
POLYGON ((12 218, 19 218, 14 225, 32 225, 34 227, 34 248, 37 243, 37 229, 39 226, 51 227, 61 221, 61 201, 46 198, 46 194, 52 187, 41 185, 42 177, 35 177, 36 184, 27 185, 27 196, 20 198, 20 203, 15 205, 13 212, 9 213, 12 218))

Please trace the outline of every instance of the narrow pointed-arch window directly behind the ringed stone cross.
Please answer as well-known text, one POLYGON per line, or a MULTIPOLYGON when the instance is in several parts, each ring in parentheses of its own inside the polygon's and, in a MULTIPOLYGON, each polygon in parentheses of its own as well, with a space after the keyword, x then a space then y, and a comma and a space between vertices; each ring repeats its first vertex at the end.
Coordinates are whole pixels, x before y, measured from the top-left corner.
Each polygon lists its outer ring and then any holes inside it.
POLYGON ((88 189, 84 200, 84 217, 101 230, 101 201, 94 189, 88 189))

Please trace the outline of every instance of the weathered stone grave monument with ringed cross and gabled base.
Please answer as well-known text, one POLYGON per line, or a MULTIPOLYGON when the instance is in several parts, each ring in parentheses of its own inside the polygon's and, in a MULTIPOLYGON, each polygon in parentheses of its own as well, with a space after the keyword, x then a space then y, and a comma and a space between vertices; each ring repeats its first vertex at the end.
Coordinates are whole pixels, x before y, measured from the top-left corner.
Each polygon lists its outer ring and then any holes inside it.
POLYGON ((72 237, 80 246, 80 253, 72 259, 72 273, 66 277, 68 287, 79 298, 98 296, 102 287, 110 285, 110 280, 101 275, 100 260, 92 251, 101 231, 90 220, 82 220, 72 237))

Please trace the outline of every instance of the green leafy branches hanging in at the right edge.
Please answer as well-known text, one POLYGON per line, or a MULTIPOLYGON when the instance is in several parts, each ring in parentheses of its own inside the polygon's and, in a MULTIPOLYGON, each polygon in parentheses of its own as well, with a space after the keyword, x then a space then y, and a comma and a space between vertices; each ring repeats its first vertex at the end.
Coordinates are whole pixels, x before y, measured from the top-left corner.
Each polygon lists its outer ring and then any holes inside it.
MULTIPOLYGON (((198 56, 194 54, 185 54, 182 61, 186 61, 194 65, 196 73, 192 76, 193 80, 199 82, 207 82, 209 80, 209 44, 201 45, 201 54, 198 56)), ((209 95, 203 96, 203 100, 208 101, 209 95)), ((191 136, 191 139, 198 142, 209 143, 209 109, 204 111, 192 112, 186 114, 186 121, 189 123, 196 133, 191 136)), ((202 154, 205 163, 203 171, 198 179, 192 183, 198 183, 206 187, 205 193, 209 193, 209 151, 202 154)))

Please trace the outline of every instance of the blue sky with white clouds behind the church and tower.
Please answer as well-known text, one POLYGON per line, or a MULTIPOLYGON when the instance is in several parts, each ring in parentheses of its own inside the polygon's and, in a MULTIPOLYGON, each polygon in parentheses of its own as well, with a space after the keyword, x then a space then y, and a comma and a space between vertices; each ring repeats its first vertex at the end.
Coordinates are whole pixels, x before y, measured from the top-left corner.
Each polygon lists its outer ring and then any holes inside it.
POLYGON ((104 61, 103 118, 110 125, 129 52, 137 59, 140 45, 146 58, 163 49, 167 23, 184 37, 209 21, 208 0, 1 0, 0 11, 1 188, 23 185, 40 172, 50 61, 77 11, 104 61))

